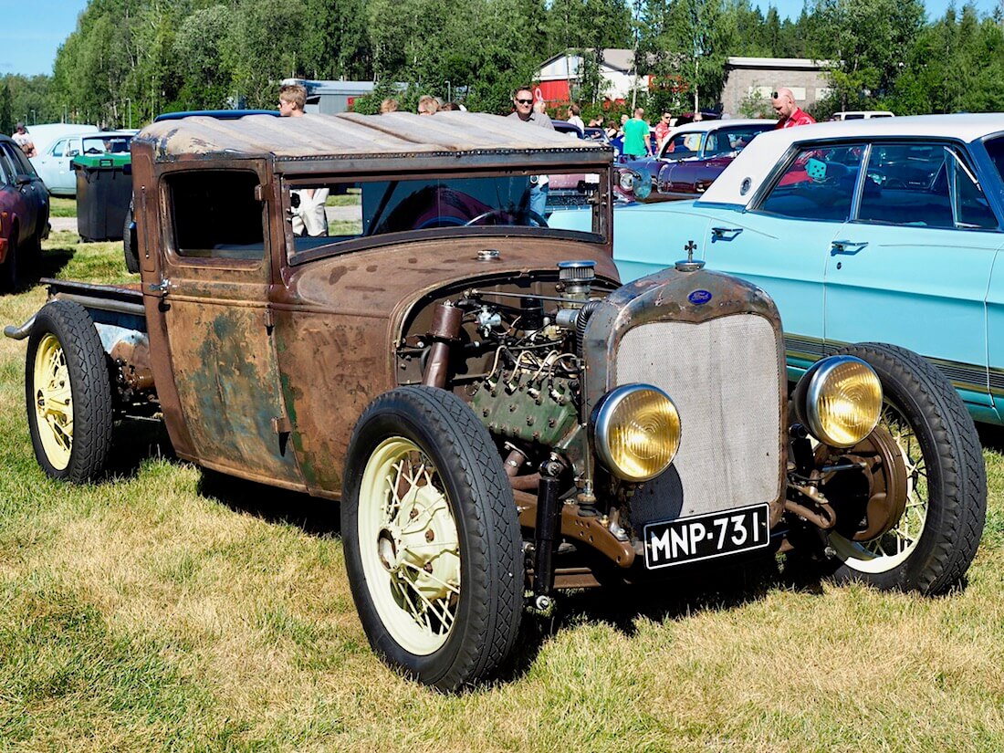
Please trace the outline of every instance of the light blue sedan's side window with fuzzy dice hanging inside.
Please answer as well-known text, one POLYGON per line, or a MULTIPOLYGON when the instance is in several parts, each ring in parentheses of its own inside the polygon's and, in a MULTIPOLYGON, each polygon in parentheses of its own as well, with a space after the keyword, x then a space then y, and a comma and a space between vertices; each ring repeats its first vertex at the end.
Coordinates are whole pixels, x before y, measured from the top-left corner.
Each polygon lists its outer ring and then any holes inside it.
POLYGON ((843 222, 860 171, 862 145, 800 150, 761 202, 761 212, 799 220, 843 222))

